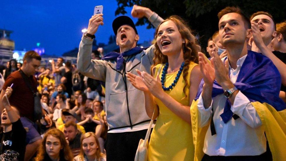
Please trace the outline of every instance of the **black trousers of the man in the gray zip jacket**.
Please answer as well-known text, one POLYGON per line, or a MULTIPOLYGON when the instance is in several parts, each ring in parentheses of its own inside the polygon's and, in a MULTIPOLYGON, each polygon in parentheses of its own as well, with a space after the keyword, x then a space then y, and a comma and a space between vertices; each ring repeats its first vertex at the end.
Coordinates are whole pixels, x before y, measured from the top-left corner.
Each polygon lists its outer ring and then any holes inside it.
POLYGON ((146 133, 147 129, 125 133, 107 133, 106 160, 134 161, 139 140, 144 139, 146 133))

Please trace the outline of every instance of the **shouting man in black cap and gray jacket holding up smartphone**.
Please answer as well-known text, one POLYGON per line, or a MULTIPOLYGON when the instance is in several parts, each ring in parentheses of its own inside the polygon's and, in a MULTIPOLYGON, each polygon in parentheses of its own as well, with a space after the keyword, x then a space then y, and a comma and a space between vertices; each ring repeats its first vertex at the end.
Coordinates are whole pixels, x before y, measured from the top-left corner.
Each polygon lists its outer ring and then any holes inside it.
MULTIPOLYGON (((157 27, 163 19, 148 8, 134 5, 133 17, 147 17, 157 27)), ((150 73, 154 45, 139 48, 139 35, 131 18, 119 16, 112 27, 120 53, 111 52, 101 60, 91 60, 92 42, 98 26, 103 25, 103 14, 91 17, 87 32, 79 45, 77 66, 87 77, 105 82, 105 101, 108 122, 105 150, 107 160, 134 160, 140 139, 144 139, 150 118, 144 104, 144 94, 126 79, 126 72, 135 69, 150 73)))

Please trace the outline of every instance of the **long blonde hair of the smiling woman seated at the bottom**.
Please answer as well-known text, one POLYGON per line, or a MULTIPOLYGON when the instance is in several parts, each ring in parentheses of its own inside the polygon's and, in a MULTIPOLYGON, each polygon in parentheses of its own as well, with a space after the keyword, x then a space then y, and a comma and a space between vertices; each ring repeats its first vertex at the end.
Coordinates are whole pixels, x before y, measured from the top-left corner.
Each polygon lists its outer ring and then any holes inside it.
POLYGON ((96 142, 96 145, 98 147, 96 150, 96 159, 99 160, 101 157, 104 157, 104 154, 101 153, 99 141, 98 141, 98 138, 96 137, 95 133, 87 132, 87 133, 81 135, 81 150, 79 152, 79 157, 81 158, 81 160, 84 160, 84 156, 85 156, 84 150, 82 148, 82 140, 84 140, 85 138, 88 138, 88 137, 94 137, 95 138, 95 142, 96 142))

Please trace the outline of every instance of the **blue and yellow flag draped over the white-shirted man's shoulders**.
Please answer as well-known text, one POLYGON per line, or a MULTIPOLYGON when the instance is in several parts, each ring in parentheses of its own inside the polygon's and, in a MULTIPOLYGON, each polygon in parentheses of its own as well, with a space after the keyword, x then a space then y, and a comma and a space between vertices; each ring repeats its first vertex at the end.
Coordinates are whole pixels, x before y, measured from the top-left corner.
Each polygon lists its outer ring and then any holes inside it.
MULTIPOLYGON (((202 92, 203 84, 202 80, 197 97, 190 107, 195 160, 201 160, 204 155, 202 149, 209 127, 198 127, 200 115, 198 114, 197 99, 202 92)), ((281 75, 278 69, 268 57, 248 51, 234 85, 256 109, 265 129, 273 160, 286 160, 286 104, 279 98, 281 75)), ((212 98, 223 93, 222 87, 214 81, 212 98)), ((228 99, 221 117, 225 123, 233 117, 231 103, 228 99)))

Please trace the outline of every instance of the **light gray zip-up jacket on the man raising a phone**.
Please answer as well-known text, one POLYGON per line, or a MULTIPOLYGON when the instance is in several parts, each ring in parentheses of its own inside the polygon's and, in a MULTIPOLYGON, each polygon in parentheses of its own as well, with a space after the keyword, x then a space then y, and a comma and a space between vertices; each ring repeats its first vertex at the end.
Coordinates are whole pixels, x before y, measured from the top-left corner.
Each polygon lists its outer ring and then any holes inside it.
MULTIPOLYGON (((158 14, 148 19, 154 27, 163 21, 158 14)), ((105 107, 108 131, 149 122, 145 111, 144 93, 127 80, 125 73, 137 74, 135 69, 150 73, 155 46, 151 45, 137 55, 124 57, 122 70, 116 70, 116 60, 91 60, 93 40, 81 38, 77 67, 87 77, 105 82, 105 107)))

